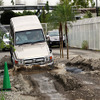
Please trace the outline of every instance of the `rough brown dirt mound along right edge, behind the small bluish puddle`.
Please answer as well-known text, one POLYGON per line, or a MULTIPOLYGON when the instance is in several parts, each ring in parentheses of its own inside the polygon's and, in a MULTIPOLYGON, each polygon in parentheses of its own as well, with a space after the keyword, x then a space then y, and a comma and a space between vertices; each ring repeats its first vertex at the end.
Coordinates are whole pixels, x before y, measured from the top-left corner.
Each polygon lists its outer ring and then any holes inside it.
POLYGON ((67 66, 78 66, 84 70, 100 70, 100 59, 84 59, 81 56, 76 56, 66 62, 67 66))

